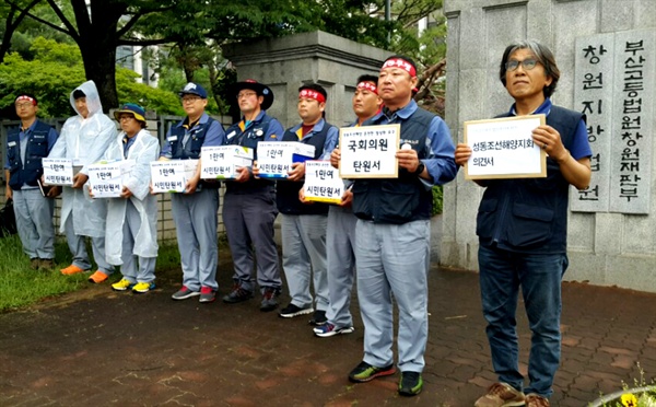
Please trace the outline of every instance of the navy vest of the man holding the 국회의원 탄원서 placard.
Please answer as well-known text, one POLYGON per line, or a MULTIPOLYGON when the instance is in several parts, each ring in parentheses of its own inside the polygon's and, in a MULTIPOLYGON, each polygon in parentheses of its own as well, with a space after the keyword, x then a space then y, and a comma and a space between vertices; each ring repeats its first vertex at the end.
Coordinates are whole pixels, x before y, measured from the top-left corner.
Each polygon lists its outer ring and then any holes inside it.
MULTIPOLYGON (((425 143, 434 114, 418 107, 407 119, 401 119, 401 143, 409 142, 419 159, 426 159, 425 143)), ((383 118, 383 117, 380 117, 383 118)), ((377 125, 367 120, 363 126, 377 125)), ((433 193, 426 190, 419 176, 399 168, 398 178, 355 179, 353 183, 353 213, 375 223, 402 224, 430 219, 433 193)))

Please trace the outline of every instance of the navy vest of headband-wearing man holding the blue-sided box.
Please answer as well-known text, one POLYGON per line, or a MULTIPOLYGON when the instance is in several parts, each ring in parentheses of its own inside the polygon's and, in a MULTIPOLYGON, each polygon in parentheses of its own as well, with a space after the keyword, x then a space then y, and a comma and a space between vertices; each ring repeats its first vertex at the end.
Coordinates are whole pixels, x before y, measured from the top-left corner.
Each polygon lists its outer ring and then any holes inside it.
MULTIPOLYGON (((324 144, 328 130, 335 127, 328 121, 324 121, 324 128, 319 132, 315 132, 311 138, 301 139, 301 142, 315 147, 315 156, 318 159, 324 153, 324 144)), ((284 132, 282 141, 298 141, 298 136, 289 129, 284 132)), ((276 203, 278 211, 284 214, 325 214, 328 213, 328 203, 315 202, 306 205, 298 200, 298 190, 303 188, 302 182, 279 181, 276 183, 276 203)))

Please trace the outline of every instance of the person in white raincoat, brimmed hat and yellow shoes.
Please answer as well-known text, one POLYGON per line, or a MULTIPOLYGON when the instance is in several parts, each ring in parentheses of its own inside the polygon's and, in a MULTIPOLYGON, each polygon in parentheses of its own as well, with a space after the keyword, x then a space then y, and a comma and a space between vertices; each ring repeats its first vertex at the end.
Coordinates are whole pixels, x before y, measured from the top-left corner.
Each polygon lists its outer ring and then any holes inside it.
POLYGON ((106 259, 121 266, 116 291, 143 293, 155 288, 157 197, 150 195, 150 163, 160 156, 160 142, 145 130, 143 107, 127 103, 114 113, 122 131, 105 153, 107 160, 134 161, 124 179, 120 198, 109 198, 105 234, 106 259))

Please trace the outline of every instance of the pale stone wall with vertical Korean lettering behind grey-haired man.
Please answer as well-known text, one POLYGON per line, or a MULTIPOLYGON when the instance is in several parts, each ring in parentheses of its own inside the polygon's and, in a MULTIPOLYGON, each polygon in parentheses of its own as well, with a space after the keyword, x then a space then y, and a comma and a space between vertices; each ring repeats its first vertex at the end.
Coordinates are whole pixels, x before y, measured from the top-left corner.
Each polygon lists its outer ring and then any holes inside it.
MULTIPOLYGON (((448 19, 446 121, 454 140, 462 140, 464 121, 490 118, 511 106, 513 101, 499 80, 505 46, 516 39, 547 44, 561 69, 552 100, 586 112, 590 146, 595 155, 600 154, 593 158, 591 186, 601 188, 586 194, 572 188, 571 263, 565 279, 656 292, 655 170, 651 160, 656 120, 656 1, 445 0, 444 11, 448 19), (635 65, 629 61, 628 49, 639 43, 642 49, 635 65), (601 65, 609 68, 590 62, 589 47, 599 51, 602 45, 607 53, 599 56, 607 61, 601 65), (599 73, 604 90, 594 91, 596 86, 590 84, 599 84, 599 73), (631 93, 626 83, 640 83, 642 89, 631 93), (626 109, 628 103, 634 106, 637 100, 639 111, 626 109), (599 106, 599 101, 606 103, 599 106), (633 144, 623 138, 623 126, 636 119, 640 128, 633 131, 640 131, 641 138, 633 144), (604 131, 597 132, 599 128, 604 131), (629 153, 636 149, 640 173, 630 175, 641 179, 635 182, 634 194, 622 176, 632 160, 629 153), (629 193, 635 196, 628 197, 629 193), (583 202, 594 194, 597 202, 583 202)), ((476 214, 482 190, 465 181, 462 172, 445 187, 443 265, 478 268, 476 214)))

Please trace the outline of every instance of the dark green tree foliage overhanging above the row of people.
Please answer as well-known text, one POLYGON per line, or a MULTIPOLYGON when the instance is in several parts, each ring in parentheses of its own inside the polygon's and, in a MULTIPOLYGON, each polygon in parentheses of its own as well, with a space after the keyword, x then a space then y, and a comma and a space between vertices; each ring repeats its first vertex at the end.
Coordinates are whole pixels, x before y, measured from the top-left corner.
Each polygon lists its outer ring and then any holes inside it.
POLYGON ((179 89, 180 79, 207 78, 203 85, 214 94, 216 108, 225 112, 227 105, 219 95, 235 74, 221 57, 224 44, 314 30, 411 55, 422 70, 434 73, 421 78, 425 92, 420 90, 420 95, 433 97, 436 78, 443 73, 431 69, 444 58, 444 43, 434 40, 445 33, 444 19, 435 14, 442 0, 391 3, 393 21, 386 22, 385 0, 4 0, 0 20, 5 22, 3 34, 13 34, 12 49, 21 49, 25 59, 34 57, 31 40, 36 36, 25 36, 26 30, 43 34, 47 28, 50 36, 57 33, 74 42, 85 78, 96 82, 106 109, 117 106, 120 92, 126 91, 116 82, 117 46, 163 45, 151 62, 163 75, 178 69, 184 73, 164 78, 163 88, 173 91, 174 85, 179 89), (437 24, 417 38, 413 24, 426 15, 437 24))

